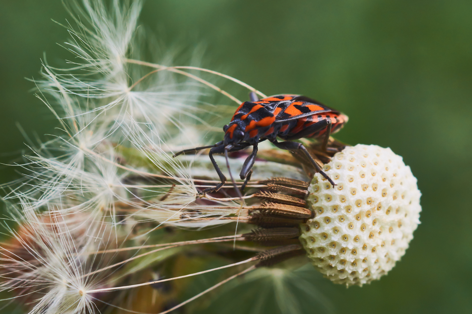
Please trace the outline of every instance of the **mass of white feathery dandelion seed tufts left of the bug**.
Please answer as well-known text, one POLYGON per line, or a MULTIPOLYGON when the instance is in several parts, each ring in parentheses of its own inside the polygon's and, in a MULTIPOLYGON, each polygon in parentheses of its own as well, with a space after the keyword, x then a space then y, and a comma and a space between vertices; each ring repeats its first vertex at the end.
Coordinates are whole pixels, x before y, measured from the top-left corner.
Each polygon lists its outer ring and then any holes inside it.
MULTIPOLYGON (((138 58, 149 48, 136 40, 142 1, 72 0, 66 6, 74 21, 66 23, 70 39, 62 45, 72 61, 57 68, 44 60, 42 79, 34 81, 59 128, 51 140, 31 145, 18 165, 25 179, 8 186, 5 198, 21 208, 9 209, 17 228, 5 225, 11 239, 0 290, 25 300, 32 314, 98 313, 98 301, 108 313, 122 300, 100 291, 141 285, 140 271, 177 254, 136 253, 148 240, 166 242, 163 232, 152 231, 169 225, 200 230, 249 215, 233 200, 201 198, 202 185, 213 184, 201 178, 215 178, 208 158, 172 157, 221 133, 210 121, 228 110, 202 101, 203 86, 237 99, 190 73, 197 68, 170 66, 171 51, 157 56, 163 65, 138 58)), ((237 159, 240 168, 244 159, 237 159)), ((255 169, 261 170, 256 179, 305 178, 277 163, 256 161, 255 169)))

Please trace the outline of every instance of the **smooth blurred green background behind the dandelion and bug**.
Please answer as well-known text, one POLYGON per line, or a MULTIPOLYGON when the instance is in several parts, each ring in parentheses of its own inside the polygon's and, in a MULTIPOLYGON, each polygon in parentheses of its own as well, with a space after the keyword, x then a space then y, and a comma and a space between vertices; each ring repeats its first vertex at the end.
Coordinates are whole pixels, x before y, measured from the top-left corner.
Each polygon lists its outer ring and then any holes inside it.
MULTIPOLYGON (((148 0, 141 22, 169 45, 203 44, 204 66, 267 95, 343 111, 339 140, 390 147, 411 166, 423 212, 407 254, 362 288, 318 276, 337 313, 471 313, 471 16, 466 0, 148 0)), ((16 123, 41 139, 57 126, 25 77, 39 77, 43 52, 51 64, 71 58, 51 21, 67 17, 59 0, 1 0, 0 162, 25 149, 16 123)), ((17 176, 0 171, 1 182, 17 176)), ((207 313, 237 313, 229 307, 245 301, 230 292, 207 313)), ((255 313, 274 313, 264 308, 255 313)))

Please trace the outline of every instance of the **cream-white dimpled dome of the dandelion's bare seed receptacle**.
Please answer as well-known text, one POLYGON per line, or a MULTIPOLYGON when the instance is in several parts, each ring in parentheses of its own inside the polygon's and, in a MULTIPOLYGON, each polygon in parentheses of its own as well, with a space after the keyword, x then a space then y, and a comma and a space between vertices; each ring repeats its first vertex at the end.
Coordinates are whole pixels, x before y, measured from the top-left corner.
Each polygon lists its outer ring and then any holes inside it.
POLYGON ((315 217, 300 241, 324 276, 346 286, 379 279, 405 254, 420 223, 420 190, 391 149, 346 147, 324 165, 335 188, 315 174, 308 191, 315 217))

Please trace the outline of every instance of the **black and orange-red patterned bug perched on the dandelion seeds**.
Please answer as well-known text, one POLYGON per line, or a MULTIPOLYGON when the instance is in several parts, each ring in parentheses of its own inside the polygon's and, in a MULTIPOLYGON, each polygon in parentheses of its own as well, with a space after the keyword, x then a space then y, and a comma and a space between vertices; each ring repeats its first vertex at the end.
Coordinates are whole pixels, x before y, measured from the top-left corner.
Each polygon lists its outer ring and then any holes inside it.
MULTIPOLYGON (((347 122, 348 117, 317 100, 300 95, 284 94, 258 99, 257 95, 252 92, 250 99, 251 101, 243 102, 236 109, 231 122, 223 127, 225 135, 222 141, 210 146, 185 149, 174 154, 174 157, 176 157, 180 154, 211 148, 209 157, 221 183, 203 190, 202 193, 216 192, 227 181, 226 176, 215 162, 213 154, 224 153, 229 170, 228 152, 253 146, 253 151, 244 161, 239 174, 241 180, 245 180, 241 187, 241 190, 243 190, 251 178, 251 168, 256 159, 257 145, 263 140, 269 140, 280 149, 302 150, 315 167, 316 172, 326 178, 334 188, 335 183, 321 170, 320 165, 313 159, 303 144, 292 140, 301 138, 322 139, 321 148, 328 151, 330 134, 339 131, 347 122), (277 137, 284 141, 279 142, 277 137)), ((231 172, 229 174, 231 175, 231 172)))

